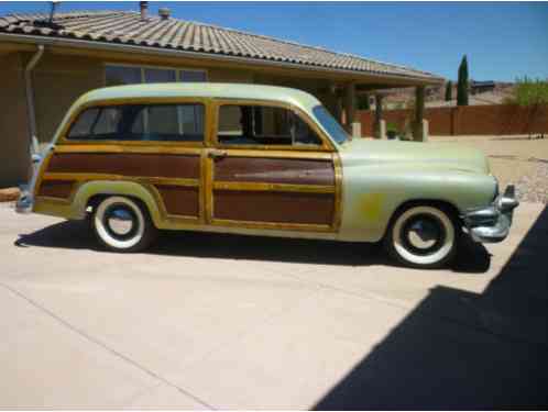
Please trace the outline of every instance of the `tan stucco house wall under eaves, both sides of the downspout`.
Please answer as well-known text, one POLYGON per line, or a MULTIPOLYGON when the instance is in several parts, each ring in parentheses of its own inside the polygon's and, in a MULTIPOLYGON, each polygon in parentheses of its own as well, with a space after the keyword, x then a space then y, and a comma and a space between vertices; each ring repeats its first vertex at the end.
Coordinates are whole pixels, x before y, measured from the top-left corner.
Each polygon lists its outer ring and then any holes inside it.
MULTIPOLYGON (((0 185, 18 185, 26 180, 29 155, 29 121, 24 94, 23 68, 32 57, 30 52, 0 54, 0 103, 4 110, 0 114, 0 132, 3 151, 0 154, 0 185)), ((133 56, 134 57, 134 56, 133 56)), ((54 54, 46 51, 33 70, 36 127, 40 143, 51 141, 55 130, 70 104, 83 93, 105 86, 105 63, 140 65, 132 59, 120 60, 81 55, 54 54)), ((250 69, 196 66, 184 59, 176 63, 143 60, 143 66, 174 68, 202 68, 208 73, 208 81, 242 82, 286 86, 303 89, 318 97, 328 109, 335 103, 328 92, 327 81, 298 79, 254 73, 250 69)))

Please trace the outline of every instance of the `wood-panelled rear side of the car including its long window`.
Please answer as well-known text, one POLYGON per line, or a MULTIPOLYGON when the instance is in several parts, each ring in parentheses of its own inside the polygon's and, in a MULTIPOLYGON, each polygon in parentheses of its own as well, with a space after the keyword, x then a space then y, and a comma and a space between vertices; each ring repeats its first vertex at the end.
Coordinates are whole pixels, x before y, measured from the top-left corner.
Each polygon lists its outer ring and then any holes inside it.
POLYGON ((201 156, 207 100, 96 102, 63 132, 36 186, 41 200, 70 202, 90 180, 134 181, 164 220, 202 223, 201 156))

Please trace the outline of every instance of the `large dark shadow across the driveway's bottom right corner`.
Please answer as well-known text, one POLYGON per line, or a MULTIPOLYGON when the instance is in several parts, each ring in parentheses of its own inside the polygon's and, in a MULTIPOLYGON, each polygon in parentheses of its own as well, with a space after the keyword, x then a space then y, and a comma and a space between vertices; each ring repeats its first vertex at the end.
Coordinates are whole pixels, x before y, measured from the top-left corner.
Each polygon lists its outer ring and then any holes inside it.
POLYGON ((548 207, 483 293, 436 287, 316 410, 545 409, 548 207))

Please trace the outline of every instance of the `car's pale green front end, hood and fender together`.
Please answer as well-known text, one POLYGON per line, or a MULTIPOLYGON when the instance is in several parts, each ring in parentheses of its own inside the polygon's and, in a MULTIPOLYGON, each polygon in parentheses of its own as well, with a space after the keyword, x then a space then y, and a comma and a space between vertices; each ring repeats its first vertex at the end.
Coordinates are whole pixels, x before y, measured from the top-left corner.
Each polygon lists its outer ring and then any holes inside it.
POLYGON ((339 240, 377 242, 409 201, 442 201, 459 213, 487 207, 497 191, 485 156, 445 143, 352 140, 338 146, 343 200, 339 240))

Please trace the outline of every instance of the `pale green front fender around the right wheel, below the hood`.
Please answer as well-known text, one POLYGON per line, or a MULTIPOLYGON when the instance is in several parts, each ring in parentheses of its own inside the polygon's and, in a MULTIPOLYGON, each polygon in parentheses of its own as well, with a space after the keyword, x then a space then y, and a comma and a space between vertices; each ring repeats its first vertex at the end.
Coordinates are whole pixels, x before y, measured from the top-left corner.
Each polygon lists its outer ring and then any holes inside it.
POLYGON ((344 168, 339 237, 351 242, 382 240, 393 213, 408 201, 443 201, 462 212, 489 204, 495 192, 496 180, 490 175, 441 166, 344 168))

